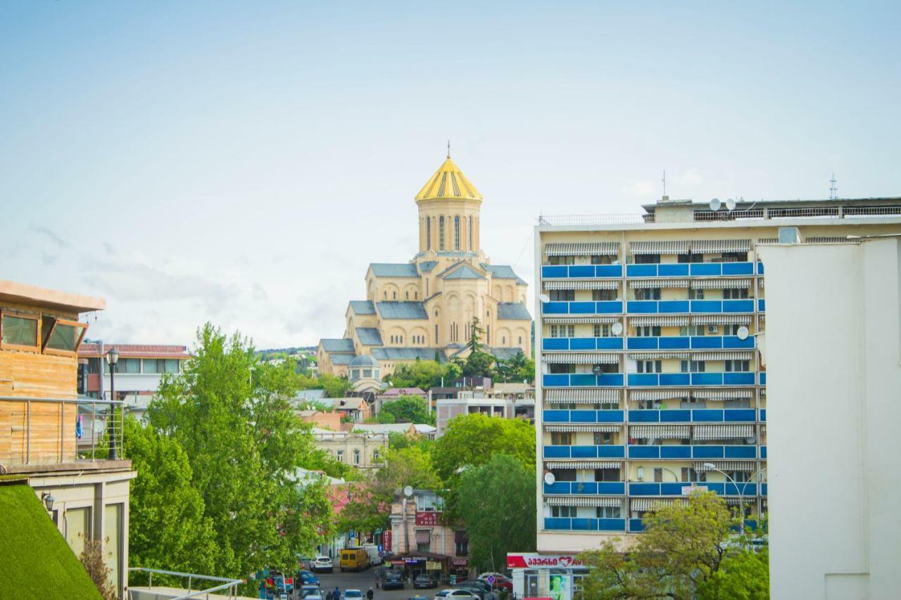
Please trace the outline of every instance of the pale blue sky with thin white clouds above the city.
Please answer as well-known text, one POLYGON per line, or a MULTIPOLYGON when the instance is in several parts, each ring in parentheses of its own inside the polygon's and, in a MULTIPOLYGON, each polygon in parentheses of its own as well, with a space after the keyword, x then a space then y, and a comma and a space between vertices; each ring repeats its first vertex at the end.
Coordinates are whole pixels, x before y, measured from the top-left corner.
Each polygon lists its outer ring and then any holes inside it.
MULTIPOLYGON (((541 214, 901 195, 901 3, 0 3, 0 279, 88 337, 339 337, 451 153, 532 283, 541 214)), ((531 290, 530 290, 531 291, 531 290)), ((530 303, 530 308, 531 308, 530 303)))

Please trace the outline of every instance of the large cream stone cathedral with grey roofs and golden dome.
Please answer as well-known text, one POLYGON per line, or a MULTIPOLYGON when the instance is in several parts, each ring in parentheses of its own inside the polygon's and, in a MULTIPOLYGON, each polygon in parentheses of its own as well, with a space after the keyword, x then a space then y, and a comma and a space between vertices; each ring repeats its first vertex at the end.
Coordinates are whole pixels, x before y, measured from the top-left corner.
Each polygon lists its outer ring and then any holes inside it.
POLYGON ((528 284, 482 250, 482 195, 450 152, 415 201, 419 251, 409 262, 369 265, 366 299, 348 303, 344 336, 319 341, 321 373, 363 384, 415 359, 465 358, 476 317, 497 359, 531 356, 528 284))

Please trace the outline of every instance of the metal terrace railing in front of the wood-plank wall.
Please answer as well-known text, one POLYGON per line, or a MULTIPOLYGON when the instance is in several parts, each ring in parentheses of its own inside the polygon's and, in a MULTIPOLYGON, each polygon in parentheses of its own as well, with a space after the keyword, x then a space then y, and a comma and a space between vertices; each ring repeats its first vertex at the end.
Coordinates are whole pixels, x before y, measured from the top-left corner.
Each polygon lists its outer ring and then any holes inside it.
POLYGON ((0 450, 0 472, 122 458, 121 400, 0 396, 0 403, 11 431, 8 450, 0 450))

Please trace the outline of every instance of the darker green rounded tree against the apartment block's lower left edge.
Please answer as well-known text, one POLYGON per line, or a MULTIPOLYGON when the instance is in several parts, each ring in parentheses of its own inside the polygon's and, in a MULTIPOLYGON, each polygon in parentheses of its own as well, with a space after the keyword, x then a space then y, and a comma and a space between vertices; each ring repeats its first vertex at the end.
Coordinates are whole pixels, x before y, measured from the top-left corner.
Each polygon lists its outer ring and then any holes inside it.
POLYGON ((469 556, 479 571, 498 571, 508 551, 535 550, 535 468, 496 454, 466 470, 456 497, 469 534, 469 556))

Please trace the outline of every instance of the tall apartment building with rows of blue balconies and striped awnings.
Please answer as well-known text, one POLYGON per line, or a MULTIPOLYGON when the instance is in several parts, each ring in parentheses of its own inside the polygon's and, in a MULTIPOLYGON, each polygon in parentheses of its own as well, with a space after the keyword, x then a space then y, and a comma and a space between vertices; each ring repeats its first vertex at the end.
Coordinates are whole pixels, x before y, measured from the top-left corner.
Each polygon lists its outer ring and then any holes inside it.
POLYGON ((808 242, 901 232, 901 198, 724 204, 665 196, 643 214, 540 219, 536 516, 548 559, 514 569, 520 593, 548 595, 553 570, 571 597, 579 569, 555 557, 628 540, 652 505, 695 489, 751 521, 767 512, 757 251, 781 228, 808 242))

